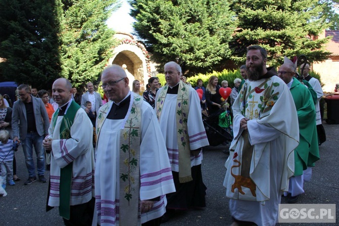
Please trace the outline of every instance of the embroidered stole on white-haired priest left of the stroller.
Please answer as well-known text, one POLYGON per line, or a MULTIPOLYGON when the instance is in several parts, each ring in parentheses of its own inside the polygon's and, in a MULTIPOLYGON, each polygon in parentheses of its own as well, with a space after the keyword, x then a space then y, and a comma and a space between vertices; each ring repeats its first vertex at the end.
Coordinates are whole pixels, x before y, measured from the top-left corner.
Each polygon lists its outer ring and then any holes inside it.
MULTIPOLYGON (((165 102, 168 85, 160 91, 156 102, 156 116, 160 121, 161 111, 165 102)), ((191 150, 187 130, 188 112, 189 112, 189 86, 182 81, 179 82, 177 104, 176 104, 176 123, 177 123, 177 142, 179 150, 179 181, 185 183, 192 181, 191 175, 191 150)))

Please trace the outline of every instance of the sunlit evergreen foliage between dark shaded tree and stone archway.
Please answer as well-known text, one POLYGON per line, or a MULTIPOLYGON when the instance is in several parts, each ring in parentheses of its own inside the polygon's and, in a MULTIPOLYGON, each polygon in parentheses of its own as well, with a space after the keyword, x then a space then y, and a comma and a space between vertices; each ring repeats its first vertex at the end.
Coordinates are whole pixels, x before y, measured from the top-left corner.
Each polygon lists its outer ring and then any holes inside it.
POLYGON ((116 0, 62 0, 62 77, 74 86, 98 83, 111 56, 114 32, 105 24, 116 0))

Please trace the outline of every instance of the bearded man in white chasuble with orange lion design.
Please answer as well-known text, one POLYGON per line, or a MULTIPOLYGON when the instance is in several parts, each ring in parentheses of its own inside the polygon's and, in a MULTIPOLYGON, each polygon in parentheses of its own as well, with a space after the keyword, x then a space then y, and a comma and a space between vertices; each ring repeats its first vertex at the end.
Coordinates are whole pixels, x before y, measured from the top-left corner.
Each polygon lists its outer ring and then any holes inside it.
POLYGON ((232 225, 275 225, 294 173, 298 116, 288 87, 266 61, 265 49, 247 48, 248 79, 233 104, 234 139, 224 181, 232 225))

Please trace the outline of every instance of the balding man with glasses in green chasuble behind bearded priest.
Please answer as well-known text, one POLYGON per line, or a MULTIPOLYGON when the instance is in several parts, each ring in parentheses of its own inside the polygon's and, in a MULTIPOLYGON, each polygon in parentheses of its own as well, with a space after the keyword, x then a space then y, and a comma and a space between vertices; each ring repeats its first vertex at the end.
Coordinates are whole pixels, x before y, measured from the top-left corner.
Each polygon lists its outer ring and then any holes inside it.
POLYGON ((285 59, 280 66, 278 76, 288 86, 296 111, 298 112, 300 140, 294 150, 294 176, 289 179, 287 195, 288 203, 295 203, 299 196, 304 193, 304 173, 312 172, 311 168, 319 160, 319 148, 316 130, 316 111, 312 95, 306 85, 300 83, 295 76, 295 69, 285 59), (305 171, 305 172, 304 172, 305 171))

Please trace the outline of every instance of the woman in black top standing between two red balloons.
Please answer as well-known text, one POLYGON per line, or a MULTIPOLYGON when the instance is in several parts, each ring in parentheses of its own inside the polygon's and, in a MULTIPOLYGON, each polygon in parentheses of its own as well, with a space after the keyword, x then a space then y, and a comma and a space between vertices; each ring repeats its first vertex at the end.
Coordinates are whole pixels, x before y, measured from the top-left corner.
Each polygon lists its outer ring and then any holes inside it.
POLYGON ((209 115, 214 114, 224 105, 224 102, 221 100, 219 89, 218 77, 211 76, 208 80, 205 94, 209 115))

